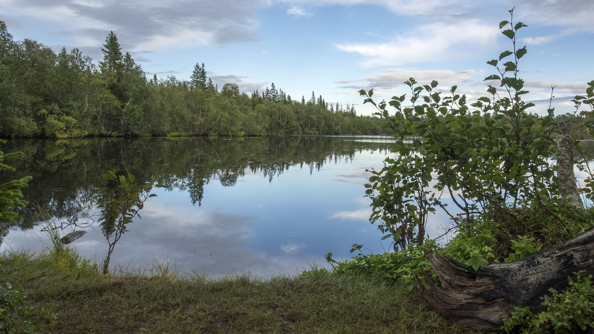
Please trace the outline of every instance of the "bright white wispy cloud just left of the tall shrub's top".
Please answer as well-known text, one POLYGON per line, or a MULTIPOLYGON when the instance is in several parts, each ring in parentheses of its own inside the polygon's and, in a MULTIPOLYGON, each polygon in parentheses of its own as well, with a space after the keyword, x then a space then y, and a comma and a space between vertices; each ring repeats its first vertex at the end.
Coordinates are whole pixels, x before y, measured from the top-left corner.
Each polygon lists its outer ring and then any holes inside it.
POLYGON ((403 65, 473 56, 473 49, 493 45, 499 34, 497 27, 473 20, 454 24, 436 22, 397 34, 388 43, 335 45, 341 51, 366 56, 365 65, 403 65))

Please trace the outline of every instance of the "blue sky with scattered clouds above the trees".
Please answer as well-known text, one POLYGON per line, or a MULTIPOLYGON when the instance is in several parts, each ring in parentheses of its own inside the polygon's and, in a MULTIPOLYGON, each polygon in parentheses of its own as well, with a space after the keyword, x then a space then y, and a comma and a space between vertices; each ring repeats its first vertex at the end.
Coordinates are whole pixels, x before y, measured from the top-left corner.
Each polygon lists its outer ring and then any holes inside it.
POLYGON ((403 82, 432 80, 472 101, 486 95, 486 61, 512 48, 498 24, 522 21, 520 77, 535 101, 555 114, 594 80, 592 0, 0 0, 0 20, 15 40, 33 39, 58 52, 78 48, 95 62, 113 31, 147 77, 189 80, 204 63, 219 89, 238 84, 260 92, 271 83, 293 100, 312 92, 328 103, 371 115, 361 89, 389 100, 403 82))

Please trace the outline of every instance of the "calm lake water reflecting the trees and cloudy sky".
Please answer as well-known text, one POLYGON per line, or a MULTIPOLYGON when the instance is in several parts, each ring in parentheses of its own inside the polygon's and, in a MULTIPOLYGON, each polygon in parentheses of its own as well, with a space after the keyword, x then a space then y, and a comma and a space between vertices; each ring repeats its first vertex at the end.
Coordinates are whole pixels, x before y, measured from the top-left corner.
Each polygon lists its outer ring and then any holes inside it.
MULTIPOLYGON (((383 252, 390 242, 369 223, 365 169, 381 168, 392 143, 387 136, 13 140, 2 150, 24 152, 8 162, 17 175, 0 177, 33 176, 23 191, 30 206, 0 251, 45 247, 38 207, 63 223, 62 235, 74 231, 68 219, 98 215, 110 199, 101 175, 129 171, 138 181, 154 175, 165 187, 153 188, 157 197, 128 225, 112 267, 150 270, 154 260, 168 259, 176 270, 211 278, 267 277, 325 267, 328 252, 346 259, 355 242, 365 253, 383 252)), ((99 222, 79 222, 90 225, 72 245, 102 263, 108 242, 99 222)), ((429 231, 439 224, 432 225, 429 231)))

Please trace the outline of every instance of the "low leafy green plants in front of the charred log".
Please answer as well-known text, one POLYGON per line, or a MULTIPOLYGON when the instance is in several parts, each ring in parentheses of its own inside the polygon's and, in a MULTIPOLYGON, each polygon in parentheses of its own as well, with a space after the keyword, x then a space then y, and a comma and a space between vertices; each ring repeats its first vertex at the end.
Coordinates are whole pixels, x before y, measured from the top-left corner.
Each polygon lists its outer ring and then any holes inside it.
POLYGON ((576 333, 594 329, 594 286, 592 275, 575 273, 576 281, 568 277, 569 287, 564 292, 549 289, 542 305, 546 310, 538 314, 528 307, 515 307, 516 311, 506 319, 505 332, 520 333, 576 333))

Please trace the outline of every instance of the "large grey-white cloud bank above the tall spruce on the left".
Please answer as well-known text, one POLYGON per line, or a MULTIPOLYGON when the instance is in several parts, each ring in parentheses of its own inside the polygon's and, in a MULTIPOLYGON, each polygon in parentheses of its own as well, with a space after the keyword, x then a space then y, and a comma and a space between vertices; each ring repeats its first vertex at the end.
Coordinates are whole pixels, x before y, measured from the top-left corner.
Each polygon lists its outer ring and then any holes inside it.
POLYGON ((73 40, 97 46, 110 30, 121 45, 135 51, 183 49, 258 40, 255 11, 264 0, 114 1, 114 0, 2 0, 0 10, 53 23, 54 30, 73 40))

